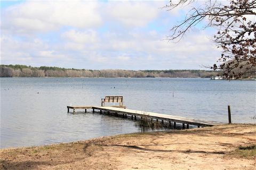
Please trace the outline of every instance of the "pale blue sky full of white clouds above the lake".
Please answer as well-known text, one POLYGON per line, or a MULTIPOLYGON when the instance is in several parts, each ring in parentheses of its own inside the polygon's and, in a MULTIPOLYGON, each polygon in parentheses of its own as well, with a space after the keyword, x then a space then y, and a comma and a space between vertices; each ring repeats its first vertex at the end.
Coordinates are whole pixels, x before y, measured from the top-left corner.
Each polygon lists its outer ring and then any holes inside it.
POLYGON ((170 70, 213 65, 214 29, 166 40, 189 6, 169 1, 1 1, 1 64, 75 69, 170 70))

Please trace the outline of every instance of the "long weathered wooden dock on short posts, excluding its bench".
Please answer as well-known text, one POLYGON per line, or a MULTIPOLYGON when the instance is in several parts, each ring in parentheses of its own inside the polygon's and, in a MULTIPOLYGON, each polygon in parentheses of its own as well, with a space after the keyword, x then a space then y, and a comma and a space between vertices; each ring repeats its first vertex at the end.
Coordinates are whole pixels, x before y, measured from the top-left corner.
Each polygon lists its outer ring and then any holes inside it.
POLYGON ((151 118, 151 120, 155 121, 167 121, 171 124, 173 122, 174 128, 176 126, 176 123, 181 123, 182 124, 182 129, 185 129, 185 124, 186 128, 189 128, 189 125, 195 125, 198 128, 199 127, 205 127, 205 126, 213 126, 213 125, 221 125, 221 124, 226 124, 222 122, 215 122, 215 121, 205 121, 205 120, 199 120, 195 118, 186 118, 186 117, 181 117, 181 116, 172 116, 172 115, 167 115, 167 114, 161 114, 161 113, 153 113, 153 112, 145 112, 145 111, 136 111, 132 109, 124 109, 124 108, 118 108, 118 107, 113 107, 113 106, 67 106, 68 112, 69 109, 73 109, 74 113, 76 109, 84 109, 85 113, 87 109, 92 109, 92 112, 94 113, 95 110, 99 110, 100 113, 103 113, 102 111, 105 111, 104 113, 107 114, 114 114, 115 116, 118 115, 123 115, 124 118, 131 117, 133 120, 137 120, 138 118, 151 118))

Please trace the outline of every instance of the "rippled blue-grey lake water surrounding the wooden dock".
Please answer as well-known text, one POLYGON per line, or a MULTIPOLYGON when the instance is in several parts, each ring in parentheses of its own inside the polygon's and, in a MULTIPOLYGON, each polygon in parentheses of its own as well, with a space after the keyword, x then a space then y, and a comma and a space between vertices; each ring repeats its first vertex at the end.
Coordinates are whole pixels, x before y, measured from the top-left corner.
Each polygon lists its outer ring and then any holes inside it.
POLYGON ((124 105, 235 123, 256 123, 256 81, 170 78, 1 78, 1 148, 44 145, 138 132, 135 122, 114 116, 67 113, 67 105, 100 106, 108 95, 124 105), (114 88, 115 87, 115 88, 114 88), (173 96, 174 95, 174 96, 173 96))

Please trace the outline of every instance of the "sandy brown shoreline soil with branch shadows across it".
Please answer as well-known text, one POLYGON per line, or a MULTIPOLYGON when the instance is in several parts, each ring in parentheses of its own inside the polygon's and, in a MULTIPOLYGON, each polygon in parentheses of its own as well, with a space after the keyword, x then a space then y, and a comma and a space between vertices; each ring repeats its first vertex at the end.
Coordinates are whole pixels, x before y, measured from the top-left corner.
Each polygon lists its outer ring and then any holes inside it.
POLYGON ((228 156, 256 144, 256 125, 135 133, 59 145, 2 149, 1 169, 256 169, 228 156))

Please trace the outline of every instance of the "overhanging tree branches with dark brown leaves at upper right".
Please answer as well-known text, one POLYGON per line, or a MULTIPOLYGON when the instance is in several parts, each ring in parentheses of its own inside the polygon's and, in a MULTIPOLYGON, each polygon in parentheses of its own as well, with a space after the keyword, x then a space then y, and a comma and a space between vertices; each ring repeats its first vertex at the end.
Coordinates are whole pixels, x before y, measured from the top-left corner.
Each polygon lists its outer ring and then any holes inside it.
POLYGON ((227 77, 241 78, 255 73, 256 67, 256 1, 229 0, 205 1, 201 5, 194 0, 170 1, 167 10, 195 4, 186 17, 172 27, 169 40, 180 40, 186 32, 206 21, 205 28, 217 29, 213 41, 222 48, 222 54, 211 68, 222 70, 227 77))

